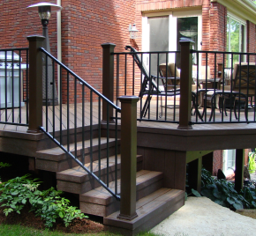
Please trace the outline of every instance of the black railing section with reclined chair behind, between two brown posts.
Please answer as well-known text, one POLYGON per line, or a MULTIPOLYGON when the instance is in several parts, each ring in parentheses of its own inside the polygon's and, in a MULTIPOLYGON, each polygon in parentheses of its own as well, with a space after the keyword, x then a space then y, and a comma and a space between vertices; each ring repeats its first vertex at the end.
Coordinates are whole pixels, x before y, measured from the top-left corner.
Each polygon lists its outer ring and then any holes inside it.
MULTIPOLYGON (((116 98, 123 95, 139 96, 138 121, 178 122, 180 77, 178 70, 168 70, 168 62, 170 58, 177 62, 179 53, 133 50, 114 53, 116 98), (163 64, 167 73, 161 69, 163 64)), ((177 63, 173 63, 173 68, 177 69, 177 63)))

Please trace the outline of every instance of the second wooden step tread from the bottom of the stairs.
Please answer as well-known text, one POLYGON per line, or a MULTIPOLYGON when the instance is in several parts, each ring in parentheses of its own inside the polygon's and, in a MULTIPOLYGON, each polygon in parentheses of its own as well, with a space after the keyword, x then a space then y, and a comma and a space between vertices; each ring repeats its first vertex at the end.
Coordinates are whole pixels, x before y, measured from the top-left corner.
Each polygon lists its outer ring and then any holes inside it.
MULTIPOLYGON (((161 172, 141 170, 136 173, 136 186, 137 191, 139 189, 145 188, 154 181, 159 181, 162 179, 161 172)), ((109 183, 109 188, 115 191, 115 181, 109 183)), ((120 180, 117 181, 117 193, 120 193, 120 180)), ((115 201, 115 198, 109 194, 109 192, 102 187, 95 188, 85 194, 80 195, 80 202, 95 203, 108 205, 115 201)))

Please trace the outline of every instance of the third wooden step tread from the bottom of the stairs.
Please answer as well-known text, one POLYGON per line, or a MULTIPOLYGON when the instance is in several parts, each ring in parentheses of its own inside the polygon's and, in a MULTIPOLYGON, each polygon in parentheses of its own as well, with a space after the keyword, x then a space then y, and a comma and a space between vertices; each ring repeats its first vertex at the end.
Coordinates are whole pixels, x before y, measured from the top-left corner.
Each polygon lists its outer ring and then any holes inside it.
MULTIPOLYGON (((137 159, 141 159, 141 155, 137 155, 137 159)), ((111 156, 109 157, 109 172, 115 170, 115 161, 116 157, 111 156)), ((121 162, 121 155, 117 155, 117 165, 120 166, 121 162)), ((101 159, 101 174, 106 173, 106 168, 107 168, 107 159, 101 159)), ((86 163, 85 166, 90 169, 90 164, 86 163)), ((120 168, 118 166, 118 168, 120 168)), ((99 160, 95 160, 93 162, 93 172, 97 174, 99 172, 99 160)), ((76 166, 73 167, 72 169, 67 169, 62 172, 56 173, 56 179, 60 181, 72 181, 72 182, 78 182, 81 183, 83 181, 86 181, 88 173, 81 167, 81 166, 76 166)))

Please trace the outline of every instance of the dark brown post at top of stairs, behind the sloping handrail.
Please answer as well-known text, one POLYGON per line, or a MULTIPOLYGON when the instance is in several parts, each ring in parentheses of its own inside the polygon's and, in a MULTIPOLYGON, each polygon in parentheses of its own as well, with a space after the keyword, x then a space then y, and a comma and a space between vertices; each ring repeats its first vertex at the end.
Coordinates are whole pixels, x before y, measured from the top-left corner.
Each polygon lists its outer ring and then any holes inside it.
MULTIPOLYGON (((110 101, 114 101, 114 48, 116 44, 103 43, 103 55, 102 55, 102 94, 110 101)), ((102 101, 102 122, 113 122, 113 109, 109 108, 106 101, 102 101)))

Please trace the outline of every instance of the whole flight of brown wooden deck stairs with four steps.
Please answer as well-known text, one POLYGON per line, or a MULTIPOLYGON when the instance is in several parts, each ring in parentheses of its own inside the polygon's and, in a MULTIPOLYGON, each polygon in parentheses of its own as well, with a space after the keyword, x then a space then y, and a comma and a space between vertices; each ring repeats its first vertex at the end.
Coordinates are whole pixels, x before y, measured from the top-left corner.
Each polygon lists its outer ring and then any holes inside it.
MULTIPOLYGON (((114 191, 115 166, 114 139, 109 138, 109 188, 114 191)), ((118 141, 119 142, 119 141, 118 141)), ((72 151, 74 144, 70 145, 72 151)), ((78 144, 78 159, 81 160, 82 141, 78 144)), ((85 141, 85 166, 93 168, 101 179, 107 178, 107 138, 101 137, 101 168, 98 160, 98 137, 93 139, 93 165, 90 161, 90 140, 85 141)), ((98 181, 94 181, 78 164, 59 147, 50 147, 37 151, 35 168, 56 173, 58 190, 79 195, 79 208, 82 212, 103 218, 103 223, 109 231, 120 232, 122 235, 135 235, 146 231, 167 218, 172 212, 184 205, 184 191, 163 188, 163 173, 143 169, 143 156, 137 156, 137 214, 132 221, 117 218, 119 201, 98 181)), ((117 192, 120 192, 120 154, 117 156, 117 192)))

